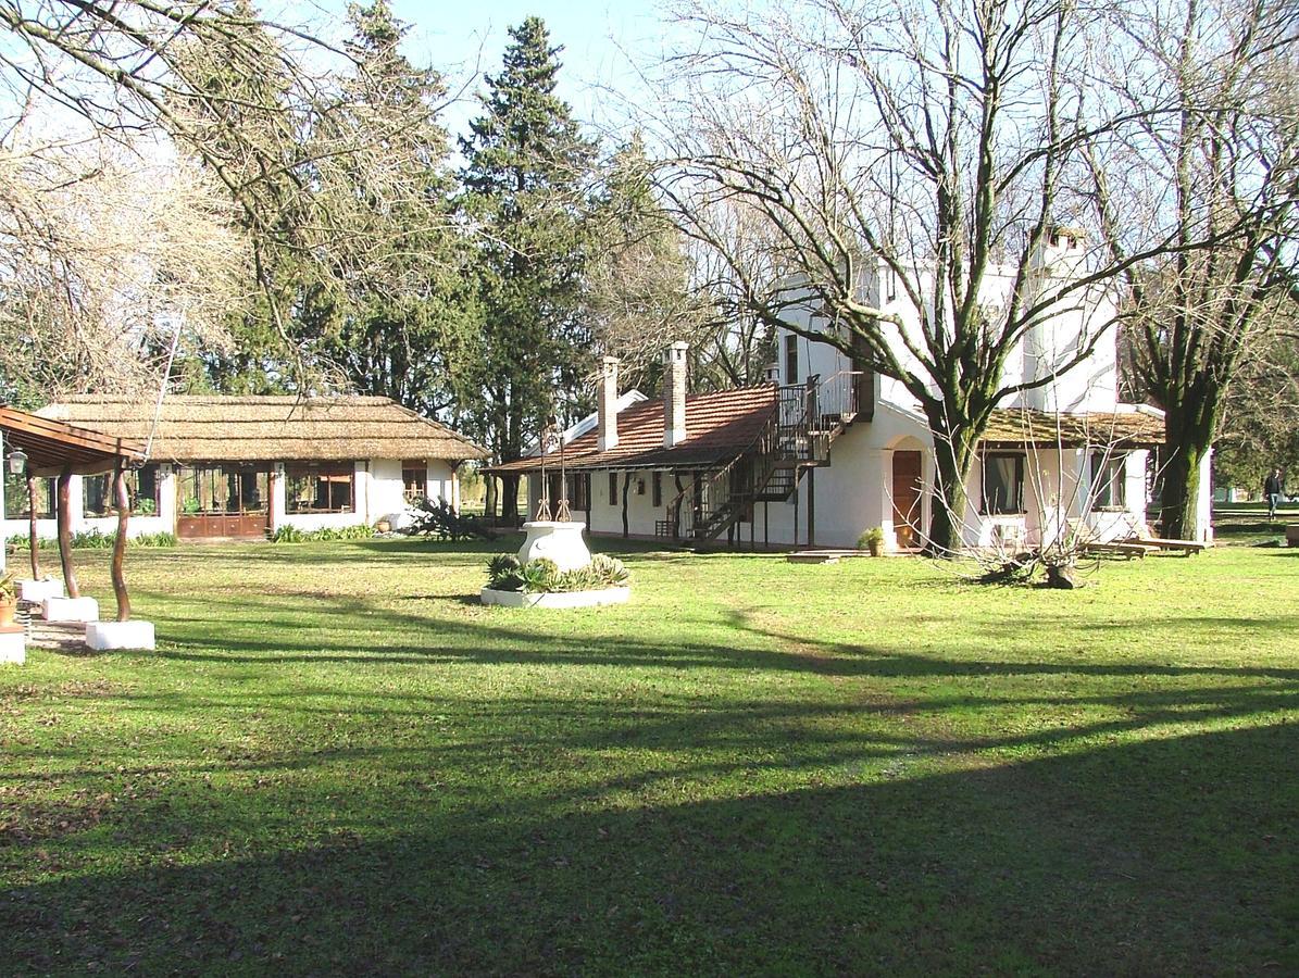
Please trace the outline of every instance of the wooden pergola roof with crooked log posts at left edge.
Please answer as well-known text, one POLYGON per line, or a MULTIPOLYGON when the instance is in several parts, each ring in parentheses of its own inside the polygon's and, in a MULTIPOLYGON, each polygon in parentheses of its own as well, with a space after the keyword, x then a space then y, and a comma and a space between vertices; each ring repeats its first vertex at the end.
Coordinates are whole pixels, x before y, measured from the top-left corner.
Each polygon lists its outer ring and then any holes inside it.
POLYGON ((69 597, 81 597, 71 557, 71 513, 69 486, 73 475, 113 474, 113 500, 117 508, 117 539, 113 544, 113 592, 117 597, 117 621, 131 617, 131 599, 126 590, 122 564, 126 553, 126 526, 130 500, 126 495, 126 473, 144 461, 144 445, 97 431, 65 425, 61 421, 0 407, 0 433, 4 436, 8 465, 16 449, 27 456, 27 500, 30 512, 31 575, 40 579, 39 539, 36 535, 36 479, 57 481, 58 560, 64 570, 64 587, 69 597))

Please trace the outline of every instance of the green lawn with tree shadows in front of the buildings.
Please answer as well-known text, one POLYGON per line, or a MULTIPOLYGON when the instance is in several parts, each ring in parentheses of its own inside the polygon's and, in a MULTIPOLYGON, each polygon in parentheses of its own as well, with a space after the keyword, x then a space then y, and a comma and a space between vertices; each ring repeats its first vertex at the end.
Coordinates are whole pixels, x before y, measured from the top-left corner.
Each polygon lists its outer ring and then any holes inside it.
POLYGON ((1299 972, 1299 549, 129 557, 157 653, 0 669, 5 973, 1299 972))

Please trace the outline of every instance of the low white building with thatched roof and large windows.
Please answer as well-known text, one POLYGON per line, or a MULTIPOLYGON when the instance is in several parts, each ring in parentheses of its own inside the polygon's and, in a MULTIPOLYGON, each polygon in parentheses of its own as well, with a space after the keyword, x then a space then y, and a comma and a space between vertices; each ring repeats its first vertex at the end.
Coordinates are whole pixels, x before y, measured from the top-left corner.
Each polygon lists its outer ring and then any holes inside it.
MULTIPOLYGON (((456 468, 486 449, 387 397, 169 396, 155 404, 70 397, 42 417, 148 444, 130 474, 130 534, 261 539, 373 525, 414 496, 460 504, 456 468), (152 439, 151 439, 152 434, 152 439)), ((25 482, 6 487, 4 534, 26 535, 25 482)), ((55 536, 53 479, 36 490, 38 534, 55 536)), ((73 533, 117 529, 108 477, 70 479, 73 533)))

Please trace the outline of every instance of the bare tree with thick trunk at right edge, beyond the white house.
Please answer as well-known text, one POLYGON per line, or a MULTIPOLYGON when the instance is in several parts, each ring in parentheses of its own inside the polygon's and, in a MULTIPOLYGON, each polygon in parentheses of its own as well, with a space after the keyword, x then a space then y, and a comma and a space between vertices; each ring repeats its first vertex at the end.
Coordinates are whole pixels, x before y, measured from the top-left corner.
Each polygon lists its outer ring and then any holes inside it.
POLYGON ((1164 210, 1181 245, 1128 269, 1129 351, 1138 383, 1167 412, 1161 529, 1198 538, 1202 462, 1233 383, 1296 308, 1295 8, 1163 0, 1133 4, 1112 29, 1141 53, 1109 77, 1143 125, 1091 156, 1102 227, 1121 261, 1146 244, 1130 216, 1164 210), (1190 247, 1202 239, 1221 244, 1190 247))

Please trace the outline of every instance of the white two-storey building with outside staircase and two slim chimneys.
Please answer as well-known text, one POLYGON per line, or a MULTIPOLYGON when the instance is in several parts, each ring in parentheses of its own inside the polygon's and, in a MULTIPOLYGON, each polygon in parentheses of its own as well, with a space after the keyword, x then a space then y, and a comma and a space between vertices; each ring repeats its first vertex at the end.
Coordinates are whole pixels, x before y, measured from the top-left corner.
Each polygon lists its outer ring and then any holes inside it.
MULTIPOLYGON (((1081 261, 1081 240, 1060 232, 1034 270, 1051 282, 1081 261)), ((1011 282, 990 275, 989 301, 1011 282)), ((918 336, 920 317, 887 269, 866 269, 859 290, 902 320, 895 329, 918 336)), ((811 308, 801 316, 804 332, 834 329, 811 308)), ((1092 292, 1044 316, 1012 352, 1005 383, 1044 383, 1008 397, 983 435, 959 514, 965 544, 1037 543, 1068 529, 1098 540, 1148 531, 1147 469, 1163 414, 1120 403, 1113 318, 1111 300, 1092 292)), ((662 400, 630 407, 617 401, 617 362, 605 361, 592 430, 565 445, 574 518, 594 533, 779 545, 852 547, 878 526, 890 549, 922 545, 938 495, 918 401, 829 343, 782 329, 777 351, 770 384, 686 396, 685 345, 675 344, 662 400)), ((544 462, 553 500, 559 458, 544 462)), ((535 512, 540 468, 525 458, 494 471, 527 473, 535 512)))

